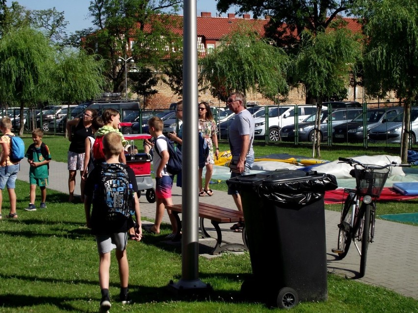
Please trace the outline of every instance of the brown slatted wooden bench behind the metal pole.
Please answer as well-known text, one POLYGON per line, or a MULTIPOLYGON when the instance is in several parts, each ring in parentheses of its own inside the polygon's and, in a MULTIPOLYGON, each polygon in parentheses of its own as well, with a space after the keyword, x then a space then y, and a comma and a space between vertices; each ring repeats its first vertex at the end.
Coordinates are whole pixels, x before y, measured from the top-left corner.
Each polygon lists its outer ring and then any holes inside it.
MULTIPOLYGON (((179 214, 182 213, 182 205, 174 204, 172 206, 166 206, 166 209, 170 209, 173 212, 174 217, 177 220, 177 234, 173 238, 173 241, 179 241, 181 239, 181 229, 182 221, 179 217, 179 214)), ((199 203, 199 226, 200 226, 200 236, 202 238, 211 238, 208 232, 205 229, 204 219, 207 218, 210 220, 211 224, 216 230, 216 245, 213 248, 211 254, 220 254, 222 251, 232 248, 239 248, 240 250, 248 251, 248 245, 245 234, 245 226, 242 230, 242 241, 243 243, 232 243, 222 240, 222 230, 219 227, 219 224, 225 223, 237 223, 244 221, 244 215, 242 212, 237 210, 232 210, 228 208, 222 208, 216 205, 211 205, 207 203, 199 203)))

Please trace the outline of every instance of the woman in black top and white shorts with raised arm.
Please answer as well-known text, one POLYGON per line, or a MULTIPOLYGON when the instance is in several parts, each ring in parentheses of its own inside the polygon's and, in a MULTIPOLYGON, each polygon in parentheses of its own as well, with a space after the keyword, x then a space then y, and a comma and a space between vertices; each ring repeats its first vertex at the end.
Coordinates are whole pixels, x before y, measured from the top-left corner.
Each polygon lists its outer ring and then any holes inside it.
MULTIPOLYGON (((74 190, 76 189, 76 175, 80 171, 83 174, 84 169, 84 155, 85 155, 85 140, 89 136, 93 136, 91 129, 91 122, 96 117, 97 111, 88 109, 82 118, 67 121, 68 140, 71 142, 68 149, 68 201, 74 201, 74 190), (72 127, 74 133, 72 132, 72 127)), ((84 202, 84 183, 80 179, 81 202, 84 202)))

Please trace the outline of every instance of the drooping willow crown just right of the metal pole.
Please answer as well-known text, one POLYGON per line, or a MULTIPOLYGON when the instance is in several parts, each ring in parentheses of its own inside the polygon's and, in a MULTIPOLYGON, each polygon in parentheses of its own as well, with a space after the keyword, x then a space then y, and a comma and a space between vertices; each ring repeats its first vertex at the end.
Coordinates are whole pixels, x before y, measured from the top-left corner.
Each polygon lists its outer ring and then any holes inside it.
POLYGON ((231 91, 244 95, 259 92, 271 99, 288 92, 286 53, 251 31, 240 30, 222 38, 221 45, 199 64, 200 84, 204 89, 212 85, 211 93, 219 99, 231 91))

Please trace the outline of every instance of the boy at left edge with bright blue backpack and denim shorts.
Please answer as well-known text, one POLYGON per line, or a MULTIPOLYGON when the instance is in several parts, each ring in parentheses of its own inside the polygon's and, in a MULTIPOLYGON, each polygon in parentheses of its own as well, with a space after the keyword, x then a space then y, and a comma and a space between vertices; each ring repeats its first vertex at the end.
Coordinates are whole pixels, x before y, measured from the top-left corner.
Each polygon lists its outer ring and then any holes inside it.
MULTIPOLYGON (((19 159, 17 158, 17 153, 20 151, 12 150, 12 138, 15 135, 11 132, 12 121, 9 118, 2 118, 0 121, 1 132, 4 136, 0 138, 1 152, 0 152, 0 219, 1 215, 1 205, 3 203, 3 189, 7 187, 7 192, 9 193, 10 200, 10 213, 9 218, 18 218, 16 213, 16 193, 15 193, 15 183, 17 178, 17 173, 19 171, 19 159)), ((16 136, 17 137, 17 136, 16 136)), ((20 139, 21 144, 23 141, 20 139)), ((25 145, 23 145, 25 149, 25 145)), ((20 149, 21 150, 21 149, 20 149)), ((25 153, 25 152, 23 152, 25 153)), ((22 153, 22 157, 23 157, 22 153)), ((20 156, 19 156, 20 157, 20 156)))

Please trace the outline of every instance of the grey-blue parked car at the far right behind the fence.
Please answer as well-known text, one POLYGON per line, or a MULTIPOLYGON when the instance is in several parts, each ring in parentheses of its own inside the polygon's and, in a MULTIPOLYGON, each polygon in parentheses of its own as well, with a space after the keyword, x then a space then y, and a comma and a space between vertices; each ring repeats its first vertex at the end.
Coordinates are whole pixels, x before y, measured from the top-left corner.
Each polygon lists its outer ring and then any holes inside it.
MULTIPOLYGON (((370 129, 368 138, 370 142, 383 142, 399 144, 402 134, 403 112, 370 129)), ((418 136, 418 107, 411 110, 411 132, 409 140, 412 144, 417 143, 418 136)))

